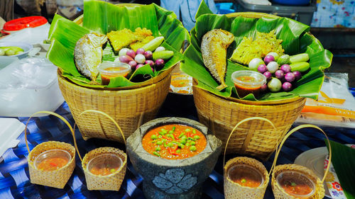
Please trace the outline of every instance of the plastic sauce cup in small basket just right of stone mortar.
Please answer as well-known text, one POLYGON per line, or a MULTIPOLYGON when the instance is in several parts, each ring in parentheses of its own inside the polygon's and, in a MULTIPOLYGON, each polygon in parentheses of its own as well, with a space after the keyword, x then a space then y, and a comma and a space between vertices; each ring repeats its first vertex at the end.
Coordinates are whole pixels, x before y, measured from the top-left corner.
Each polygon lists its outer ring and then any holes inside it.
POLYGON ((248 164, 233 165, 226 172, 228 178, 238 183, 240 186, 258 188, 264 181, 263 174, 261 174, 258 169, 248 164))

